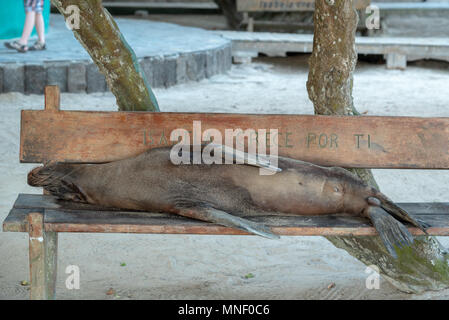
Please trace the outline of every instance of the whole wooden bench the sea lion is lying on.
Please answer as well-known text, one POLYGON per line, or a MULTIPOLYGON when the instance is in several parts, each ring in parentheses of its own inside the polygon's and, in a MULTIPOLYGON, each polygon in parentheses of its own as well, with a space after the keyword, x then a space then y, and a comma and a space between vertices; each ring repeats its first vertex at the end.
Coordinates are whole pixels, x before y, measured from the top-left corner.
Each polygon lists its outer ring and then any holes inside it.
MULTIPOLYGON (((280 155, 320 165, 449 169, 449 118, 60 111, 59 89, 54 86, 45 88, 45 110, 22 111, 20 162, 122 159, 167 145, 171 130, 190 130, 194 120, 201 121, 203 130, 222 132, 277 128, 280 155)), ((400 206, 430 223, 429 234, 449 235, 449 203, 400 206)), ((285 236, 376 235, 366 220, 345 215, 255 220, 285 236)), ((38 194, 18 196, 3 231, 29 234, 31 299, 55 297, 59 232, 245 234, 176 215, 106 209, 38 194)))

